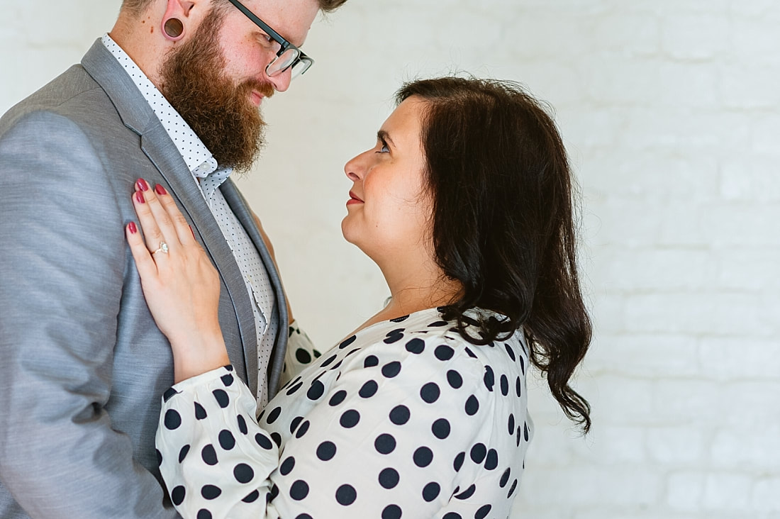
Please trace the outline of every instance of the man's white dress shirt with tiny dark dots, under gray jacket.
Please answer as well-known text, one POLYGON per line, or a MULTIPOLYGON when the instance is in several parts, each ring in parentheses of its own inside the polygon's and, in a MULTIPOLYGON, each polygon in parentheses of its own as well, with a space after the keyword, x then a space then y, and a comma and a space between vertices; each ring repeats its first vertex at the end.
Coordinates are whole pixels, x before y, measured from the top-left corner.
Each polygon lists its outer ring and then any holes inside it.
MULTIPOLYGON (((138 87, 144 99, 149 103, 154 114, 160 119, 163 128, 171 137, 173 144, 179 150, 184 162, 193 174, 193 180, 200 187, 211 213, 214 215, 222 234, 227 240, 233 256, 236 258, 243 275, 246 290, 252 301, 255 329, 257 332, 257 399, 263 405, 268 401, 268 386, 266 373, 274 338, 278 332, 278 324, 271 319, 276 304, 274 290, 268 279, 268 272, 254 247, 252 240, 246 234, 243 226, 233 214, 218 187, 227 180, 232 172, 229 168, 218 168, 216 159, 208 151, 200 137, 190 128, 190 125, 171 106, 151 80, 137 66, 108 34, 102 37, 102 42, 108 51, 119 61, 133 82, 138 87)), ((301 339, 305 340, 305 336, 301 339)), ((293 348, 307 346, 293 345, 293 348)))

